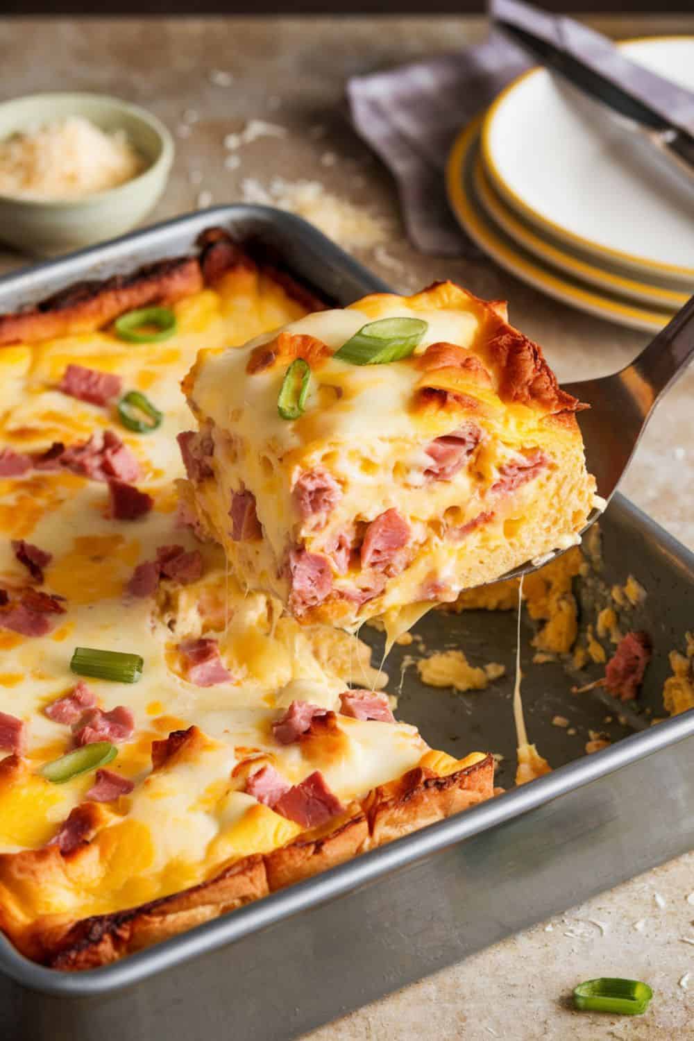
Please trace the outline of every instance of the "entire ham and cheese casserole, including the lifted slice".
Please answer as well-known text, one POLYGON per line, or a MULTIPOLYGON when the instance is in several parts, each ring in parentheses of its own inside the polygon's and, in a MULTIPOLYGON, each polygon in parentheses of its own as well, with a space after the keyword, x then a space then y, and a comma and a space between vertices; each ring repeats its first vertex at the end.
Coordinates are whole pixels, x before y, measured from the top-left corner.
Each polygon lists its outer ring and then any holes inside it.
POLYGON ((453 595, 486 574, 466 538, 505 568, 572 533, 590 499, 575 403, 542 364, 516 401, 511 362, 483 347, 436 364, 444 339, 515 335, 453 286, 292 325, 320 306, 210 229, 196 255, 0 316, 0 928, 35 961, 103 965, 493 794, 490 755, 429 748, 368 649, 305 623, 428 581, 453 595), (364 370, 329 356, 404 307, 437 351, 364 370), (330 350, 292 424, 277 395, 298 338, 330 350), (191 434, 179 383, 201 349, 191 434), (384 513, 407 527, 397 556, 374 533, 384 513), (310 604, 295 561, 318 555, 331 591, 310 604))

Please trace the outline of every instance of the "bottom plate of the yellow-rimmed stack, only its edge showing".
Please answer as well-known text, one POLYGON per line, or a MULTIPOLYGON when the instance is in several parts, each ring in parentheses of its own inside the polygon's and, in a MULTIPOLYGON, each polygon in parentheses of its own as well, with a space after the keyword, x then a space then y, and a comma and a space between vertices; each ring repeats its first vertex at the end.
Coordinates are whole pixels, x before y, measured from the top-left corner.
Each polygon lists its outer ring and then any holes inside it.
POLYGON ((519 247, 492 223, 474 195, 473 168, 479 149, 482 117, 458 136, 446 166, 451 205, 462 227, 478 246, 513 275, 563 303, 619 325, 657 332, 672 318, 672 310, 639 307, 626 300, 591 289, 552 270, 519 247))

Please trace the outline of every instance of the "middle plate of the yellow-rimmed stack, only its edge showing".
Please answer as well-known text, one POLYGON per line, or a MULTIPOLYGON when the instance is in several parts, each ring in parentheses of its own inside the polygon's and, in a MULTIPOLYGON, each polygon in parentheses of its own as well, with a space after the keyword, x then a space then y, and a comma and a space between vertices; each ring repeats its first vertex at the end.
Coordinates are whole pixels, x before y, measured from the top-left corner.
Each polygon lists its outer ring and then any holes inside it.
POLYGON ((525 223, 510 206, 507 206, 499 195, 494 192, 479 150, 475 155, 472 171, 475 201, 482 207, 492 224, 496 224, 511 236, 528 253, 534 254, 540 260, 552 268, 566 272, 572 278, 597 286, 608 293, 627 297, 641 304, 654 307, 684 307, 689 300, 689 293, 666 288, 650 282, 637 281, 634 273, 620 271, 610 260, 590 262, 574 253, 569 247, 562 246, 556 238, 542 231, 536 231, 525 223))

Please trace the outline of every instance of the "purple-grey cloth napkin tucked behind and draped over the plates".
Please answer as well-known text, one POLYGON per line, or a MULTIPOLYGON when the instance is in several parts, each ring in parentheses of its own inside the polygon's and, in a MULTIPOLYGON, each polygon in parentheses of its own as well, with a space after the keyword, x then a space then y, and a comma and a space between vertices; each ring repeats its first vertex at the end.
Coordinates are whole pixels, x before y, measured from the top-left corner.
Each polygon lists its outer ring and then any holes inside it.
MULTIPOLYGON (((629 61, 599 32, 520 0, 490 0, 492 19, 558 43, 618 83, 640 93, 676 126, 694 131, 694 95, 629 61)), ((474 256, 448 207, 443 172, 456 134, 512 79, 535 62, 492 28, 489 40, 457 54, 348 82, 357 133, 397 183, 412 244, 435 256, 474 256)))

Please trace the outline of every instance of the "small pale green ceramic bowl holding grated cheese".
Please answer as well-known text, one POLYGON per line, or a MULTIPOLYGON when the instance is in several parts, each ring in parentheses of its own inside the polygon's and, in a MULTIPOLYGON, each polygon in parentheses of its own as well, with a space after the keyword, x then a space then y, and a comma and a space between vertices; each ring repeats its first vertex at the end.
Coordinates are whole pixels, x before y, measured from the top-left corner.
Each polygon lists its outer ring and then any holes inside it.
POLYGON ((25 253, 53 256, 133 228, 159 200, 174 158, 163 123, 119 98, 33 94, 0 104, 0 141, 36 124, 82 116, 107 132, 124 130, 147 166, 118 187, 65 202, 0 195, 0 238, 25 253))

